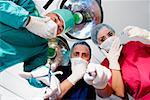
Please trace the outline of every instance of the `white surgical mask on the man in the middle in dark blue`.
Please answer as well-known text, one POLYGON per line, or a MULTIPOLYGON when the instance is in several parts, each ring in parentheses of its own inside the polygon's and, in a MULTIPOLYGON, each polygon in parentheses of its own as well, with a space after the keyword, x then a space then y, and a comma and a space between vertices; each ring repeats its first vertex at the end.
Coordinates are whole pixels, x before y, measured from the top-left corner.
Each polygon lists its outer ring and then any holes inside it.
POLYGON ((88 65, 88 62, 80 57, 78 58, 71 58, 71 64, 72 66, 77 66, 77 65, 81 65, 82 66, 87 66, 88 65))

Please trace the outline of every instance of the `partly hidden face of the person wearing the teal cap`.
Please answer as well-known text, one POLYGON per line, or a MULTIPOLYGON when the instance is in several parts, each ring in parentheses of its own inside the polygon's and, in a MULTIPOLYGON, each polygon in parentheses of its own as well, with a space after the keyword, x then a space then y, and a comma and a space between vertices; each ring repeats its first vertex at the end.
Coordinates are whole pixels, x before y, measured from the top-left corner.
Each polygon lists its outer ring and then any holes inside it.
POLYGON ((55 13, 48 13, 48 14, 46 14, 46 16, 50 17, 58 25, 57 35, 61 34, 64 30, 64 22, 61 19, 61 17, 59 17, 55 13))

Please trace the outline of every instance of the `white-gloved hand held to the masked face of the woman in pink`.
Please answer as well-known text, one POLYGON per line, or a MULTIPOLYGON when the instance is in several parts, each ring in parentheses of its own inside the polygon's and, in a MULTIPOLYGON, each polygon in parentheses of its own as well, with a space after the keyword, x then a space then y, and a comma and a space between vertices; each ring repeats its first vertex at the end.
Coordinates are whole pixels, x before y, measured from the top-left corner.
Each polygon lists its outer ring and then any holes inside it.
POLYGON ((118 37, 116 37, 115 40, 113 41, 108 53, 104 49, 101 50, 105 54, 107 59, 109 60, 110 69, 120 70, 118 59, 119 59, 121 50, 122 50, 122 45, 120 46, 120 40, 118 37))

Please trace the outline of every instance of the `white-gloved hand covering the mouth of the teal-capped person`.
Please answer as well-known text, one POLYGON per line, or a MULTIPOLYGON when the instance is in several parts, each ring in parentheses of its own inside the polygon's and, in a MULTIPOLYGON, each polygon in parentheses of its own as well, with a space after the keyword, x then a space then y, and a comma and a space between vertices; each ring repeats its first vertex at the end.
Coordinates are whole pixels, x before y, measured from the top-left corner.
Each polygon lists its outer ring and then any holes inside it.
POLYGON ((30 16, 29 22, 25 27, 42 38, 54 38, 57 35, 57 24, 49 17, 30 16))

